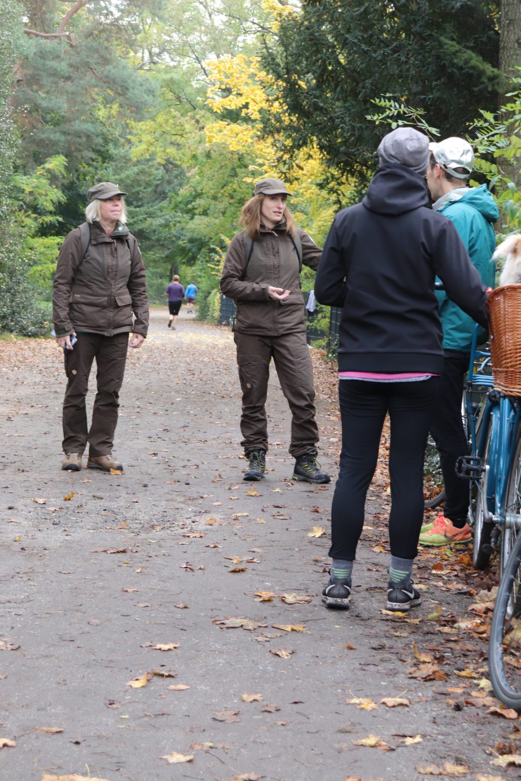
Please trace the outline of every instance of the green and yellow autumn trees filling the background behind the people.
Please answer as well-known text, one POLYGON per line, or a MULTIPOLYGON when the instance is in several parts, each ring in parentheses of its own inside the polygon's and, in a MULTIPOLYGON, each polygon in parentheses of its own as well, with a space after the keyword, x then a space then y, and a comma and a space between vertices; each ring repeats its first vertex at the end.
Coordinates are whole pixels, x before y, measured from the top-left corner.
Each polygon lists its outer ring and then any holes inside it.
POLYGON ((366 187, 387 123, 469 135, 478 178, 502 199, 498 230, 521 227, 521 58, 514 43, 505 61, 506 6, 2 0, 0 330, 47 327, 30 301, 50 300, 95 181, 129 193, 152 299, 175 272, 205 301, 255 180, 286 180, 320 243, 366 187))

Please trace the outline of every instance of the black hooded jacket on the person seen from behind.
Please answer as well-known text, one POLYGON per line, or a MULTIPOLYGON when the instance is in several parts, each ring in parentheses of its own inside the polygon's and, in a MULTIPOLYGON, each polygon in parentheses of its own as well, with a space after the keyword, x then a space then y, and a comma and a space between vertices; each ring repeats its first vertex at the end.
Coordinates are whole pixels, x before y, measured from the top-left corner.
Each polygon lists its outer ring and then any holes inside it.
POLYGON ((443 370, 434 278, 487 326, 487 294, 455 226, 427 208, 426 184, 398 163, 380 167, 362 203, 338 212, 316 273, 320 304, 342 307, 338 369, 443 370))

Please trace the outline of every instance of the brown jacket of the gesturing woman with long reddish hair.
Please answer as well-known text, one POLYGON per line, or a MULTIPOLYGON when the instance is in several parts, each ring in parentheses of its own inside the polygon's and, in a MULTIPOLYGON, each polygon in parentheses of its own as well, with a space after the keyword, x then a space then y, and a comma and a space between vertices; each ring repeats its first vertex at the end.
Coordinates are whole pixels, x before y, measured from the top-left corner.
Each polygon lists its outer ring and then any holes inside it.
MULTIPOLYGON (((304 230, 297 230, 302 243, 302 263, 316 270, 322 250, 304 230)), ((300 264, 294 244, 285 232, 284 223, 276 225, 273 230, 261 226, 260 240, 253 244, 245 276, 252 239, 246 235, 243 240, 243 235, 237 234, 230 241, 220 282, 223 294, 234 298, 237 305, 234 330, 266 336, 304 331, 306 323, 300 264), (286 301, 273 301, 268 295, 270 286, 282 287, 291 293, 286 301)))

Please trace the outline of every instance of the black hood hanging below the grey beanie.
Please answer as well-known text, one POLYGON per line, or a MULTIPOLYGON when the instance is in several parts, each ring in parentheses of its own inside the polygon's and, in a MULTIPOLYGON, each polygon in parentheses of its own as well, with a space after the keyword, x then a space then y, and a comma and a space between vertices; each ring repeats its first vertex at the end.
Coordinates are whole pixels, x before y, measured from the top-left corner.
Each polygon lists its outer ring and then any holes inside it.
POLYGON ((388 163, 376 171, 362 204, 376 214, 404 214, 429 205, 425 180, 412 168, 388 163))

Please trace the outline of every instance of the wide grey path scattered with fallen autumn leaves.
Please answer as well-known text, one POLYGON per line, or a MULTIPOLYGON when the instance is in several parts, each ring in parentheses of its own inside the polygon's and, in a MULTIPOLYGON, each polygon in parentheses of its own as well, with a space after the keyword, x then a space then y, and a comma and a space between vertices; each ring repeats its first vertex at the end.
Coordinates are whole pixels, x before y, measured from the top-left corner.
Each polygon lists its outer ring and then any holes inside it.
MULTIPOLYGON (((334 482, 291 482, 275 378, 266 480, 243 483, 232 335, 166 323, 155 310, 127 364, 122 476, 60 471, 59 350, 0 342, 0 739, 16 742, 0 740, 0 778, 516 777, 491 764, 521 754, 521 722, 491 711, 484 680, 491 582, 464 551, 428 552, 422 606, 382 611, 380 469, 351 611, 327 612, 334 482)), ((336 476, 334 372, 314 362, 336 476)))

